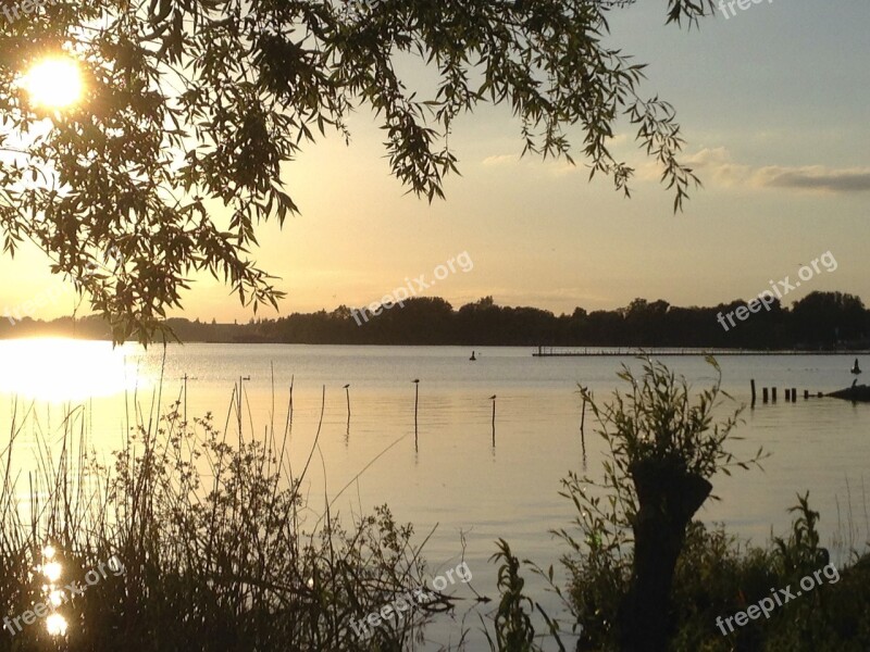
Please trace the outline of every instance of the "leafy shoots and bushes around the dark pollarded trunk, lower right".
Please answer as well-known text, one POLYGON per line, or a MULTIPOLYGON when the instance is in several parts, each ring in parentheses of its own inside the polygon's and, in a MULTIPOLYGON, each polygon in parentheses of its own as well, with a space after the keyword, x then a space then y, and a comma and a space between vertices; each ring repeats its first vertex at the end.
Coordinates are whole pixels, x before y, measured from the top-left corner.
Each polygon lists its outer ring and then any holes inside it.
MULTIPOLYGON (((593 403, 610 451, 605 482, 571 474, 563 484, 563 496, 577 511, 574 525, 581 537, 566 529, 557 534, 571 549, 563 563, 572 577, 568 599, 583 625, 579 647, 583 650, 621 649, 620 610, 633 581, 631 524, 637 515, 633 463, 672 460, 678 467, 711 477, 732 465, 757 463, 763 454, 759 450, 742 462, 725 451, 724 443, 734 439, 729 434, 736 417, 711 427, 718 383, 691 406, 688 387, 676 383, 663 365, 646 364, 639 379, 627 369, 621 377, 631 385, 627 397, 618 392, 605 409, 593 403)), ((750 620, 726 636, 717 627, 717 617, 746 611, 772 589, 796 587, 830 563, 828 550, 819 544, 819 514, 810 509, 808 496, 799 497, 790 511, 796 514, 791 535, 774 538, 768 548, 744 546, 721 526, 710 530, 699 522, 689 524, 667 605, 669 650, 870 649, 870 555, 858 557, 855 551, 857 561, 840 573, 840 581, 823 584, 778 607, 770 619, 750 620)))

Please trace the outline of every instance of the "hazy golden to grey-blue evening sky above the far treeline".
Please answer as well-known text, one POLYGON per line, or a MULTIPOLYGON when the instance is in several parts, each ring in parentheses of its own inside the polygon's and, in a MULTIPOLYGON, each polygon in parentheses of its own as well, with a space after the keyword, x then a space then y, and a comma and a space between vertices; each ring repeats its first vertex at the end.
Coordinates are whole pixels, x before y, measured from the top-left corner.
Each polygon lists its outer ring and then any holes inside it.
MULTIPOLYGON (((683 159, 704 181, 683 213, 673 213, 673 196, 624 125, 613 149, 637 167, 631 199, 607 178, 588 183, 582 158, 576 167, 521 159, 509 108, 484 105, 456 124, 461 176, 430 204, 390 176, 382 133, 361 111, 349 121, 349 147, 328 136, 286 167, 301 215, 283 229, 262 226, 253 254, 287 298, 279 313, 260 315, 370 304, 409 283, 456 308, 484 296, 557 314, 637 297, 712 305, 786 276, 794 283, 800 265, 826 252, 836 265, 820 266, 783 301, 840 290, 870 303, 870 3, 735 4, 736 15, 720 12, 699 29, 666 26, 666 7, 643 0, 613 11, 608 45, 649 64, 643 95, 676 108, 683 159), (472 264, 438 269, 460 255, 472 264), (436 271, 443 278, 431 286, 436 271), (431 287, 412 280, 421 275, 431 287)), ((0 259, 0 278, 3 310, 42 297, 29 314, 52 318, 76 303, 33 249, 0 259)), ((183 301, 175 314, 191 319, 252 316, 208 277, 183 301)))

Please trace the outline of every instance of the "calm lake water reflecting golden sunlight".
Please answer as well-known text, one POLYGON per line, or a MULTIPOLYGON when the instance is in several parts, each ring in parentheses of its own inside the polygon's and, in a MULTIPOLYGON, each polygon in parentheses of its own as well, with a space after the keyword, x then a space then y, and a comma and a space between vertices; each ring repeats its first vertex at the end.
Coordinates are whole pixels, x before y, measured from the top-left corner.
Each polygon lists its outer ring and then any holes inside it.
MULTIPOLYGON (((583 471, 580 400, 576 385, 606 399, 619 385, 621 363, 632 359, 537 359, 525 348, 478 349, 470 362, 465 348, 311 347, 257 344, 187 344, 147 353, 136 347, 112 350, 103 342, 18 340, 0 342, 7 362, 0 371, 3 430, 17 397, 18 415, 33 408, 34 419, 24 442, 35 434, 58 432, 64 404, 83 405, 91 443, 101 451, 121 444, 125 396, 148 413, 183 397, 187 375, 190 417, 206 412, 235 432, 231 397, 239 376, 247 404, 246 431, 263 432, 274 419, 283 428, 288 388, 294 378, 291 450, 298 467, 308 456, 325 410, 320 451, 307 477, 312 514, 322 513, 323 496, 344 514, 371 512, 388 503, 400 522, 413 522, 422 539, 435 529, 426 547, 433 572, 464 557, 481 593, 493 595, 495 568, 488 557, 494 541, 507 539, 521 559, 556 563, 564 548, 548 534, 569 525, 570 505, 557 496, 559 480, 571 469, 583 471), (161 368, 162 392, 158 394, 161 368), (420 379, 419 435, 414 441, 414 378, 420 379), (348 427, 344 385, 350 384, 348 427), (273 390, 274 388, 274 390, 273 390), (492 405, 496 394, 496 446, 492 405), (371 465, 370 465, 371 464, 371 465), (368 466, 368 468, 366 468, 368 466)), ((662 358, 695 387, 709 385, 712 369, 699 358, 662 358)), ((737 403, 749 401, 749 379, 778 386, 780 402, 746 410, 737 434, 744 441, 732 450, 749 454, 758 446, 772 453, 765 472, 736 471, 714 479, 714 493, 700 516, 724 522, 735 534, 767 541, 771 528, 786 530, 786 509, 795 494, 810 491, 821 511, 823 538, 858 528, 856 544, 867 540, 863 471, 870 453, 870 405, 833 399, 804 401, 803 390, 829 391, 852 383, 852 358, 729 356, 720 360, 724 388, 737 403), (797 403, 784 402, 784 388, 796 387, 797 403), (840 511, 838 525, 837 510, 840 511)), ((863 366, 870 365, 870 361, 863 366)), ((602 450, 586 418, 586 469, 601 475, 602 450)), ((25 454, 20 463, 26 466, 25 454)), ((312 521, 315 518, 312 518, 312 521)), ((534 585, 533 582, 533 586, 534 585)), ((457 594, 469 598, 465 587, 457 594)), ((539 595, 546 604, 551 599, 539 595)), ((461 612, 461 610, 460 610, 461 612)), ((469 625, 477 628, 476 619, 469 625)), ((459 625, 442 618, 427 630, 439 643, 456 640, 459 625)), ((435 648, 435 644, 426 645, 435 648)), ((480 641, 471 650, 484 649, 480 641)))

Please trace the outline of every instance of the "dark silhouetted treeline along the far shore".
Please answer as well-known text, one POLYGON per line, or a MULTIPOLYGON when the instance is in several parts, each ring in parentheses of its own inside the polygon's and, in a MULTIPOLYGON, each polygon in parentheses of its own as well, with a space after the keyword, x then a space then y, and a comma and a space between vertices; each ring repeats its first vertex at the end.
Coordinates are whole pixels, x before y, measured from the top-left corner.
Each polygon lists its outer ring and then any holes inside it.
MULTIPOLYGON (((719 315, 746 302, 712 308, 680 308, 667 301, 635 299, 617 310, 555 315, 537 308, 497 305, 492 297, 455 310, 439 298, 414 298, 362 321, 340 305, 332 312, 295 313, 247 324, 217 324, 171 318, 167 324, 182 341, 283 342, 311 344, 467 344, 546 347, 710 347, 743 349, 866 348, 870 311, 856 296, 812 292, 784 308, 779 300, 745 321, 719 315), (360 322, 358 324, 358 322, 360 322)), ((0 322, 0 337, 34 335, 110 339, 98 317, 52 322, 24 318, 0 322)))

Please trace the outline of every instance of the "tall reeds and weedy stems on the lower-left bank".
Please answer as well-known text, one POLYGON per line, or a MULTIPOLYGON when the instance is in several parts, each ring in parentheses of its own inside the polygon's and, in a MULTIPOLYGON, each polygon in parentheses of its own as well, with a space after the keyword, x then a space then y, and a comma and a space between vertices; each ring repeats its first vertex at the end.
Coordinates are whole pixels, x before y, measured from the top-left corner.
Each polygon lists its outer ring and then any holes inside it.
MULTIPOLYGON (((240 409, 241 394, 234 398, 240 409)), ((426 610, 385 622, 369 640, 351 627, 422 586, 425 563, 413 528, 386 506, 346 523, 327 505, 307 521, 300 487, 314 449, 294 475, 289 418, 283 431, 256 439, 252 428, 228 437, 210 413, 185 422, 181 401, 159 415, 132 412, 109 461, 89 448, 82 409, 67 410, 58 435, 35 427, 36 469, 25 476, 20 456, 33 415, 13 411, 0 463, 2 615, 45 600, 48 544, 62 566, 59 586, 84 586, 85 574, 113 556, 124 570, 67 595, 55 610, 64 636, 37 619, 14 636, 0 632, 0 649, 350 651, 420 640, 426 610)))

